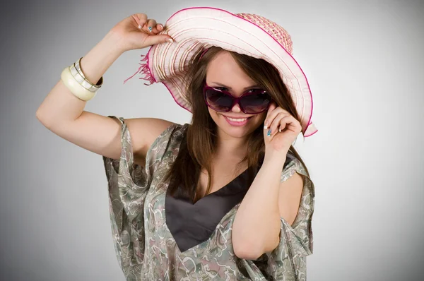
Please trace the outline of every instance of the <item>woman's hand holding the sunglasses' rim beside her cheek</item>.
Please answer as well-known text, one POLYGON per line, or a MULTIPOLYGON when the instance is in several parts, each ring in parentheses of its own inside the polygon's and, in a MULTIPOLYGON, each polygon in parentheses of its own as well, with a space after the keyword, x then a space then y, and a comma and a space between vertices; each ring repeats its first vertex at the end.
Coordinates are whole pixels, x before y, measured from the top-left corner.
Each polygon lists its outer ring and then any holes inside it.
POLYGON ((302 131, 300 122, 287 110, 277 107, 275 102, 272 102, 269 106, 264 125, 266 153, 278 153, 283 156, 288 153, 290 145, 302 131), (271 136, 268 136, 270 129, 271 136))

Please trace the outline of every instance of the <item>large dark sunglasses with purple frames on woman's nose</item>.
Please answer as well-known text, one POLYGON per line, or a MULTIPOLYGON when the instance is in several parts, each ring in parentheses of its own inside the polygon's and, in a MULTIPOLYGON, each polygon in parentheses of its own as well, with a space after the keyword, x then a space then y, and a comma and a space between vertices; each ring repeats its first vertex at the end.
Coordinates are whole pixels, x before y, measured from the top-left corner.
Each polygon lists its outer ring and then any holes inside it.
POLYGON ((233 97, 230 92, 218 88, 205 84, 203 90, 206 104, 217 112, 229 112, 235 104, 238 104, 245 114, 259 114, 266 111, 272 101, 266 90, 251 89, 240 97, 233 97))

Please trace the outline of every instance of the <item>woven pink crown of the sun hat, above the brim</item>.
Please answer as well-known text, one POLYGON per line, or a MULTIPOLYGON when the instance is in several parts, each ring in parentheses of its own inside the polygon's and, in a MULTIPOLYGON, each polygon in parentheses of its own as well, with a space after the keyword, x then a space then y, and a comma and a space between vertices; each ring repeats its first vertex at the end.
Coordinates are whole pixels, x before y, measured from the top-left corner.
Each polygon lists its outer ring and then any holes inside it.
POLYGON ((264 18, 263 16, 255 15, 254 13, 236 13, 235 16, 244 18, 254 25, 259 26, 259 28, 265 30, 269 33, 269 35, 271 35, 271 37, 273 37, 273 39, 280 43, 290 55, 293 54, 293 42, 291 37, 287 30, 282 28, 280 25, 274 23, 268 18, 264 18))

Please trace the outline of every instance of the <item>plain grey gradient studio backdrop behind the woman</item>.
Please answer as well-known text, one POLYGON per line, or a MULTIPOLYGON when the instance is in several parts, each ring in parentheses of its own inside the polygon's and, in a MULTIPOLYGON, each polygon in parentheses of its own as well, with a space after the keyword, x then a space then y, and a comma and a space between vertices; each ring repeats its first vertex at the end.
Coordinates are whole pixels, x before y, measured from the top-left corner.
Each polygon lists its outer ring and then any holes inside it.
MULTIPOLYGON (((132 13, 165 23, 188 6, 259 13, 293 38, 319 128, 295 145, 316 186, 308 280, 423 280, 423 1, 228 0, 1 6, 0 280, 124 280, 102 157, 35 112, 114 24, 132 13)), ((123 85, 146 52, 119 57, 86 110, 188 122, 162 84, 123 85)))

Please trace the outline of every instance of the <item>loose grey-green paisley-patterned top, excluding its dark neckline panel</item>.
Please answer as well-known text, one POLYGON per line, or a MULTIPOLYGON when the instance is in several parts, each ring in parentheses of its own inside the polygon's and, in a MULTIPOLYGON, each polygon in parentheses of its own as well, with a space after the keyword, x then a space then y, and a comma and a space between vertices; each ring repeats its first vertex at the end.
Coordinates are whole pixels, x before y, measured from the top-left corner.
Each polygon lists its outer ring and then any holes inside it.
POLYGON ((306 256, 312 254, 314 184, 291 153, 281 181, 298 172, 303 176, 304 187, 293 225, 281 217, 280 244, 276 249, 257 260, 235 256, 231 231, 240 201, 218 223, 211 237, 182 253, 166 224, 168 183, 162 179, 177 157, 189 124, 172 124, 163 131, 148 150, 146 167, 141 167, 134 163, 124 119, 109 117, 122 123, 121 157, 103 157, 103 162, 112 239, 126 280, 306 280, 306 256))

